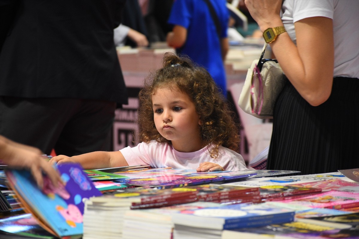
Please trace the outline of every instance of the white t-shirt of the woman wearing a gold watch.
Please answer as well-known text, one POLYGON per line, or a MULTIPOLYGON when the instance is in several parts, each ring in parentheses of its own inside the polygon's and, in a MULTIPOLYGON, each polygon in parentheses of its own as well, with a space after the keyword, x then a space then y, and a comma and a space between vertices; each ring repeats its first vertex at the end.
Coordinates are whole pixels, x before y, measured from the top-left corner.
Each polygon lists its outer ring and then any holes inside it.
POLYGON ((282 21, 294 43, 294 23, 314 16, 333 19, 334 77, 359 78, 359 1, 285 0, 283 3, 282 21))

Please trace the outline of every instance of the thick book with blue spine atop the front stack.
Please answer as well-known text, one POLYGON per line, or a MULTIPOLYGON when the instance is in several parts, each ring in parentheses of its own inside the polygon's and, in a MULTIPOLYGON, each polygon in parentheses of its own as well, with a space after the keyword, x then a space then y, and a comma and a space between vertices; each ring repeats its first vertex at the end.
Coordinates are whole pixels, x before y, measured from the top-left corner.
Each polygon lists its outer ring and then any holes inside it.
POLYGON ((290 209, 260 204, 233 204, 181 211, 172 216, 174 224, 201 230, 256 227, 293 221, 290 209))

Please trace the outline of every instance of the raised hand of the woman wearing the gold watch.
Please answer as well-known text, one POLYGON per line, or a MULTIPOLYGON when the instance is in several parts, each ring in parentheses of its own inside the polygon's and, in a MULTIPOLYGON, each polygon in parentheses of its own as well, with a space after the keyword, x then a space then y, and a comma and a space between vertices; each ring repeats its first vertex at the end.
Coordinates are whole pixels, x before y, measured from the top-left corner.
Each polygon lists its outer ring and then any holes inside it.
POLYGON ((244 0, 248 11, 262 32, 268 27, 278 27, 278 23, 281 23, 282 2, 283 0, 244 0))

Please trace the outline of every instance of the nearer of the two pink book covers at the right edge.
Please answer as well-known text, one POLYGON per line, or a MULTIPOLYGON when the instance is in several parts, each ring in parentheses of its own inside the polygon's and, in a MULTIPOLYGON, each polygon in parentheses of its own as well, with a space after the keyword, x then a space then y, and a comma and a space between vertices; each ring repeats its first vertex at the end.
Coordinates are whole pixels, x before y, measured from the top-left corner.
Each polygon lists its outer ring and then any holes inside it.
POLYGON ((281 200, 279 202, 308 207, 340 209, 359 205, 359 194, 353 192, 328 191, 297 199, 281 200))

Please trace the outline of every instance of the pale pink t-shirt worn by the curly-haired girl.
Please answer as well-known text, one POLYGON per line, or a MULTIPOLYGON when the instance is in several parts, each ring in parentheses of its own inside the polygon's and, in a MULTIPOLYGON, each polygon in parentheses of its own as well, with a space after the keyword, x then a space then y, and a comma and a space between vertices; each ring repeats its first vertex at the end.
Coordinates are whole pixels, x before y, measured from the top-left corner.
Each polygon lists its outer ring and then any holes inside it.
POLYGON ((129 165, 150 165, 154 168, 172 167, 197 169, 202 162, 214 162, 227 171, 246 171, 241 154, 228 148, 219 147, 218 157, 211 158, 207 147, 196 152, 178 152, 168 143, 158 143, 155 140, 149 143, 139 143, 135 147, 126 147, 120 150, 129 165))

